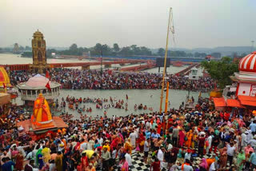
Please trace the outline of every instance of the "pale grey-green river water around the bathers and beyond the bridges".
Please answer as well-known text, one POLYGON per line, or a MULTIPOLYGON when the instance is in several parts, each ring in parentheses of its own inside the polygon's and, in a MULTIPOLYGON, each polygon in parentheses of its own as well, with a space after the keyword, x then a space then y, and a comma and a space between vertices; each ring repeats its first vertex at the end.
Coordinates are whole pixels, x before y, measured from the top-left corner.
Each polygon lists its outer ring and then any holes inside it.
MULTIPOLYGON (((49 63, 58 63, 58 62, 94 62, 89 60, 75 60, 75 59, 48 59, 47 62, 49 63)), ((17 54, 0 54, 0 64, 26 64, 26 63, 32 63, 32 58, 21 58, 17 54)), ((113 66, 113 67, 120 67, 119 65, 113 66)), ((127 67, 127 66, 126 66, 127 67)), ((186 66, 185 66, 186 67, 186 66)), ((175 67, 170 66, 170 68, 167 68, 167 73, 169 74, 175 74, 180 70, 183 70, 185 67, 175 67)), ((94 66, 92 69, 98 69, 100 66, 94 66)), ((143 72, 149 72, 149 73, 158 73, 158 68, 145 70, 143 72)), ((162 70, 160 71, 162 73, 162 70)), ((150 112, 149 109, 146 110, 137 110, 134 111, 134 105, 142 104, 146 105, 147 108, 152 107, 154 111, 159 110, 160 106, 160 89, 123 89, 123 90, 94 90, 94 89, 83 89, 83 90, 73 90, 73 89, 61 89, 60 96, 58 97, 58 100, 60 101, 62 97, 66 98, 67 95, 70 95, 70 97, 90 97, 90 98, 107 98, 110 99, 114 97, 117 100, 124 100, 126 102, 126 94, 128 95, 129 99, 127 101, 128 103, 128 110, 125 109, 106 109, 107 115, 117 115, 117 116, 125 116, 130 113, 138 114, 138 113, 148 113, 150 112)), ((169 91, 169 101, 170 106, 169 108, 178 108, 179 105, 182 104, 182 101, 186 100, 187 91, 184 90, 175 90, 170 89, 169 91)), ((195 101, 198 100, 198 92, 191 92, 190 95, 194 96, 195 101)), ((202 97, 207 97, 208 93, 202 93, 202 97)), ((18 103, 21 103, 19 99, 17 99, 18 103)), ((163 103, 165 102, 165 97, 163 99, 163 103)), ((106 102, 104 104, 109 104, 110 102, 106 102)), ((85 103, 82 105, 79 105, 78 107, 82 108, 83 105, 86 106, 86 108, 91 107, 93 109, 92 113, 86 113, 87 115, 99 115, 103 116, 104 109, 96 109, 95 104, 93 103, 85 103)), ((164 109, 164 105, 162 105, 162 109, 164 109)), ((69 113, 74 113, 74 117, 78 118, 78 112, 76 110, 67 109, 66 111, 69 113)))

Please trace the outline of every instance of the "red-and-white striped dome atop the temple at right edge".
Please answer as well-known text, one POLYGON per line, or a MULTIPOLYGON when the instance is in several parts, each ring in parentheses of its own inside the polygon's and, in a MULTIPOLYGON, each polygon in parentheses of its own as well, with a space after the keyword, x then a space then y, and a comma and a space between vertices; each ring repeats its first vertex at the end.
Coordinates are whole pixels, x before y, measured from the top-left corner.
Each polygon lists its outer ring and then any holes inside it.
POLYGON ((246 55, 240 60, 239 71, 256 73, 256 51, 246 55))

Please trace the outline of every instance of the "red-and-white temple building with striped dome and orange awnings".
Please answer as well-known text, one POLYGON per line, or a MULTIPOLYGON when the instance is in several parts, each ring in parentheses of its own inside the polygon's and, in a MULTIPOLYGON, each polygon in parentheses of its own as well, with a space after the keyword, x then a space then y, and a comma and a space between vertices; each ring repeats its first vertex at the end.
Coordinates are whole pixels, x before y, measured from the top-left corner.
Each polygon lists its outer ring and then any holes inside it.
POLYGON ((214 98, 216 109, 256 109, 256 51, 242 58, 238 69, 238 73, 230 76, 234 83, 226 86, 222 97, 214 98))

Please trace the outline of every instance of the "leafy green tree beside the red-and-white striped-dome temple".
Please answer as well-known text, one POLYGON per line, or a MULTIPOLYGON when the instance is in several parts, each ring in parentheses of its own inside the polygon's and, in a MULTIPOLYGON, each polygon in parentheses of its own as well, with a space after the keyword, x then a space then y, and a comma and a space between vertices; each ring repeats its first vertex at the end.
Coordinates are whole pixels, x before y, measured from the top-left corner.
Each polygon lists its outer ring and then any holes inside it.
POLYGON ((218 82, 220 88, 225 88, 231 84, 230 76, 238 72, 238 61, 232 62, 232 58, 223 57, 220 61, 201 62, 211 78, 218 82))

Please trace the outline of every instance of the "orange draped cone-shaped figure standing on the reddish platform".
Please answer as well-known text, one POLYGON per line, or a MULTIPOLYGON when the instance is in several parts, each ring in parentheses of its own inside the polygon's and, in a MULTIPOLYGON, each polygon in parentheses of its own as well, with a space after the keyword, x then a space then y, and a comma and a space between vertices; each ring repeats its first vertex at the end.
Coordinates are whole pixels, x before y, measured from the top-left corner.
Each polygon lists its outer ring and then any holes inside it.
POLYGON ((37 99, 34 101, 34 112, 31 121, 34 125, 47 124, 53 121, 50 107, 42 93, 39 93, 37 99))

